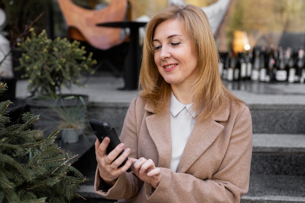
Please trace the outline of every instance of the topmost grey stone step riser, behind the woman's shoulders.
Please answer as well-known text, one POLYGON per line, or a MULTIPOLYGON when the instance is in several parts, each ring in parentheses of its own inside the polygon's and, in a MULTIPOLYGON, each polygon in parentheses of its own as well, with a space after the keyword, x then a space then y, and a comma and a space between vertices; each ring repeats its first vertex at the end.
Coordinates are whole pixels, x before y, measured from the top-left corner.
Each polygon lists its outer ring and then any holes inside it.
MULTIPOLYGON (((276 99, 280 99, 276 98, 276 99)), ((120 134, 129 102, 91 103, 90 118, 108 121, 120 134)), ((253 133, 305 134, 304 104, 248 104, 253 133)))

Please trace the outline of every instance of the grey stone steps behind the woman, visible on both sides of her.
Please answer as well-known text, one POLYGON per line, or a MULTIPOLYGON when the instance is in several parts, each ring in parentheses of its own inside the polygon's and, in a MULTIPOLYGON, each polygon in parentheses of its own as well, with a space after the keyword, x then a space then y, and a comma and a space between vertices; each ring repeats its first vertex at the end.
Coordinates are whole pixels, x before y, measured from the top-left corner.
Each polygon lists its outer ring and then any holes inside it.
MULTIPOLYGON (((272 92, 272 88, 275 86, 269 85, 267 91, 272 92)), ((281 85, 277 88, 283 89, 281 85)), ((301 88, 304 89, 304 86, 301 88)), ((250 185, 241 203, 305 203, 304 94, 293 93, 293 90, 290 90, 292 93, 282 94, 231 91, 246 101, 253 123, 250 185)), ((95 102, 90 107, 89 115, 109 121, 119 134, 128 105, 128 102, 95 102)), ((81 185, 79 191, 87 199, 86 203, 114 202, 94 193, 94 148, 80 158, 76 167, 91 179, 81 185)), ((81 199, 72 201, 82 202, 81 199)))

